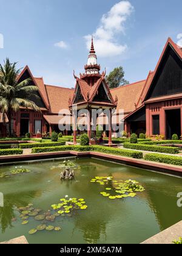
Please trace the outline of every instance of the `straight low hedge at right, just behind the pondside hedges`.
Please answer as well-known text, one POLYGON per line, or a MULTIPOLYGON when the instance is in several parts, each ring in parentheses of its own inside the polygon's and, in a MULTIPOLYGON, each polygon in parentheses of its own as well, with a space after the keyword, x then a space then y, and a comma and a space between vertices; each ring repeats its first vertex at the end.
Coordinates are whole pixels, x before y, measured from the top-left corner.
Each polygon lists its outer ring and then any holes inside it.
POLYGON ((160 152, 160 153, 166 153, 166 154, 179 153, 179 149, 175 147, 155 146, 155 145, 146 145, 146 144, 131 144, 131 143, 124 143, 123 146, 126 149, 137 149, 137 150, 160 152))

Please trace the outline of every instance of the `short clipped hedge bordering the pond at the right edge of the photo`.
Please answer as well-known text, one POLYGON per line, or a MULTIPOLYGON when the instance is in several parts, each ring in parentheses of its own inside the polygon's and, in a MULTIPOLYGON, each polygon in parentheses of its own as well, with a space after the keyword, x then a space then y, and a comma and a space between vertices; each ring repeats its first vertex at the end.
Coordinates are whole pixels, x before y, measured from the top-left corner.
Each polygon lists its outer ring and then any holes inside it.
POLYGON ((182 157, 173 155, 146 154, 144 159, 152 162, 167 163, 169 165, 182 165, 182 157))

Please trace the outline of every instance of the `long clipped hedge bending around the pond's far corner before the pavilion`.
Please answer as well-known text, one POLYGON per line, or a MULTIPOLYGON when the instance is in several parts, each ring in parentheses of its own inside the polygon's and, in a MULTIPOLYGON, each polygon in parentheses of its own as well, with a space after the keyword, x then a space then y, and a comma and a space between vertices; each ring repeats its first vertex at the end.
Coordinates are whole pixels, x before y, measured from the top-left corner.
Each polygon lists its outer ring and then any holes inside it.
POLYGON ((122 155, 125 157, 132 158, 143 158, 142 152, 130 151, 125 149, 115 149, 115 148, 107 148, 103 146, 60 146, 60 147, 52 147, 52 148, 33 148, 32 154, 35 153, 43 153, 43 152, 61 152, 61 151, 95 151, 95 152, 103 152, 106 154, 112 155, 122 155))

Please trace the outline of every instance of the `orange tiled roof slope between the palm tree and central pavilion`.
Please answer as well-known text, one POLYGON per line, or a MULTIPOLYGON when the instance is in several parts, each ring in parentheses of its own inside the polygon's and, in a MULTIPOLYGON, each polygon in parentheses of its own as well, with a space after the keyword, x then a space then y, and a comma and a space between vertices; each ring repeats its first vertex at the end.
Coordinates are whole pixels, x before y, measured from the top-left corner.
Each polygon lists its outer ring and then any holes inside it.
POLYGON ((50 112, 59 113, 62 109, 69 110, 69 98, 73 97, 74 90, 53 85, 45 85, 50 104, 50 112))

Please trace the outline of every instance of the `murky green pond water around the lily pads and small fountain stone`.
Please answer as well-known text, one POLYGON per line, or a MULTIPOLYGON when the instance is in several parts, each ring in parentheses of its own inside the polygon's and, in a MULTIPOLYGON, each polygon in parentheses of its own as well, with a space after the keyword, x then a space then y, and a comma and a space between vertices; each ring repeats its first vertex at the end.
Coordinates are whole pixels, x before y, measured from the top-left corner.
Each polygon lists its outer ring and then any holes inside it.
POLYGON ((182 219, 182 208, 177 207, 181 178, 95 158, 71 161, 80 166, 75 170, 76 180, 64 182, 59 180, 62 160, 0 166, 0 174, 15 167, 31 171, 0 179, 0 192, 4 194, 0 241, 25 235, 29 243, 141 243, 182 219), (136 180, 146 190, 136 197, 111 200, 100 194, 107 185, 90 182, 95 176, 136 180), (22 225, 18 208, 33 204, 46 212, 66 195, 83 198, 88 208, 72 216, 58 216, 48 224, 61 227, 59 232, 43 230, 29 235, 29 230, 41 222, 30 217, 29 223, 22 225))

